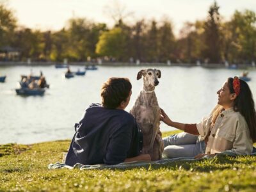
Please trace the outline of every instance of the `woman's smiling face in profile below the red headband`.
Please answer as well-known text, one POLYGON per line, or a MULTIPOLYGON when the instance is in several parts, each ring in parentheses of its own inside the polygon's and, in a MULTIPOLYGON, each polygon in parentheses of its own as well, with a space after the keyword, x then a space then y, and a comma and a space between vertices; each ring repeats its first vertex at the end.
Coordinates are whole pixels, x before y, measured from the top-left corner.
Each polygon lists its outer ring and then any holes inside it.
POLYGON ((232 108, 233 106, 233 96, 234 93, 230 93, 230 90, 228 88, 228 82, 226 81, 222 88, 218 90, 218 104, 223 106, 223 108, 228 109, 232 108))

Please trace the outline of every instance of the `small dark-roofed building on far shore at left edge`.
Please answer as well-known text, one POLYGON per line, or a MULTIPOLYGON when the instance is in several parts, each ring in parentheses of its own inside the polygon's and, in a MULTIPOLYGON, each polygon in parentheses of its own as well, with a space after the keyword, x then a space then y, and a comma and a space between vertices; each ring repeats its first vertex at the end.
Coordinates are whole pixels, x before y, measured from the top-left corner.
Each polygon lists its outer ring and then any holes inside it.
POLYGON ((0 48, 0 61, 17 61, 20 58, 20 50, 10 46, 0 48))

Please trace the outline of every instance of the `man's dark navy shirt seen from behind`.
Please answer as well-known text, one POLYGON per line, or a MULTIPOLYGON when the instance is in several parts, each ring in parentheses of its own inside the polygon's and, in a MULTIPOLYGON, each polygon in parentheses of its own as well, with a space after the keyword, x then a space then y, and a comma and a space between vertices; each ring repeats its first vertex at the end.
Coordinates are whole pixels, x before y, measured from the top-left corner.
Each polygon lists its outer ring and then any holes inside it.
POLYGON ((122 163, 126 157, 140 154, 142 145, 138 143, 142 143, 142 136, 131 114, 92 104, 76 126, 65 163, 122 163))

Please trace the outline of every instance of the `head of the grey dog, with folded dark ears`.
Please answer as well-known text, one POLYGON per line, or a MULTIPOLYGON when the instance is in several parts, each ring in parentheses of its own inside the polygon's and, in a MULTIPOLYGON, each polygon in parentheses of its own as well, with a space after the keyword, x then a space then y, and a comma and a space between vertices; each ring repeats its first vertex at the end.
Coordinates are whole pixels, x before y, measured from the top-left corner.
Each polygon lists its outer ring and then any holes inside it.
POLYGON ((159 84, 158 78, 161 77, 161 71, 156 68, 146 68, 138 72, 137 80, 141 79, 146 86, 157 86, 159 84))

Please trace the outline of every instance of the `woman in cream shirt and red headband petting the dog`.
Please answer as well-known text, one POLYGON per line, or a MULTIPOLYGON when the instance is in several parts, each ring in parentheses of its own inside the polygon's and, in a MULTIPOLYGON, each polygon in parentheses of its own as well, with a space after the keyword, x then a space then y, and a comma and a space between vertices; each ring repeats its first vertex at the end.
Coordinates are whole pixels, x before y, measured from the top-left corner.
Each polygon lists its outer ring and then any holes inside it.
POLYGON ((238 77, 230 77, 217 94, 218 105, 199 124, 173 122, 161 109, 165 124, 184 131, 163 139, 163 156, 201 158, 228 150, 236 154, 252 153, 256 142, 256 113, 248 84, 238 77))

